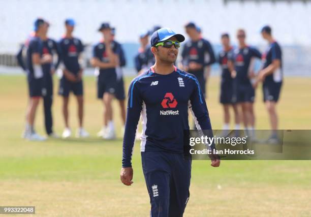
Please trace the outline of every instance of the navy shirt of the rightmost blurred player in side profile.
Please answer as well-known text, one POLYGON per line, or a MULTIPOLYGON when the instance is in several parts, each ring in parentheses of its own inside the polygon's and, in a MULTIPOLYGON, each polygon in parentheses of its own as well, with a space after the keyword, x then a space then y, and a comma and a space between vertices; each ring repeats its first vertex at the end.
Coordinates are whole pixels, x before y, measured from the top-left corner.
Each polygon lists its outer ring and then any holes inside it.
POLYGON ((279 69, 276 69, 272 74, 268 75, 264 83, 269 82, 281 82, 283 80, 283 71, 282 71, 282 50, 277 42, 272 42, 267 51, 262 55, 263 68, 267 68, 274 59, 281 61, 281 66, 279 69))

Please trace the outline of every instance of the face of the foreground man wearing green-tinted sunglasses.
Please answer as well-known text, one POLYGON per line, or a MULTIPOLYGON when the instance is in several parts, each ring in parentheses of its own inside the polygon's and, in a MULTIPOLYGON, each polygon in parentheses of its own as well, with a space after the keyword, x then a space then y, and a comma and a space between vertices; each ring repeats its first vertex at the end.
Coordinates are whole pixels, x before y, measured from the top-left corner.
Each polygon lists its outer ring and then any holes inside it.
MULTIPOLYGON (((167 41, 177 41, 175 37, 169 38, 167 41)), ((167 63, 174 63, 177 59, 178 48, 175 48, 174 45, 170 48, 166 48, 163 46, 158 46, 154 49, 154 54, 161 60, 167 63)))

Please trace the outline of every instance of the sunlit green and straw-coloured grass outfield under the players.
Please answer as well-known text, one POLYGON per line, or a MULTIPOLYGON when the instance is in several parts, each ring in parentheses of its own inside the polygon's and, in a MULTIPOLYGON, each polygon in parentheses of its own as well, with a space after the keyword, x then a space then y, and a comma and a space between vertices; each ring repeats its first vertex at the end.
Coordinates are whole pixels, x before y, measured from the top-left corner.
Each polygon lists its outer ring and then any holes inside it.
MULTIPOLYGON (((130 79, 126 79, 127 86, 130 79)), ((55 89, 58 81, 55 80, 55 89)), ((208 82, 208 108, 214 129, 222 126, 219 78, 208 82)), ((282 129, 310 129, 311 79, 286 78, 278 105, 282 129)), ((27 104, 23 75, 0 75, 0 206, 36 206, 36 216, 149 216, 139 143, 133 157, 134 184, 119 181, 121 132, 115 141, 96 138, 102 104, 94 77, 85 78, 85 140, 21 139, 27 104)), ((60 98, 55 95, 54 128, 63 130, 60 98)), ((257 128, 268 129, 267 113, 257 90, 257 128)), ((121 123, 115 103, 117 129, 121 123)), ((44 134, 42 104, 36 129, 44 134)), ((71 98, 70 122, 77 126, 71 98)), ((184 216, 310 216, 310 161, 222 161, 220 168, 194 161, 190 200, 184 216)), ((13 216, 13 215, 10 215, 13 216)), ((30 215, 31 216, 31 215, 30 215)))

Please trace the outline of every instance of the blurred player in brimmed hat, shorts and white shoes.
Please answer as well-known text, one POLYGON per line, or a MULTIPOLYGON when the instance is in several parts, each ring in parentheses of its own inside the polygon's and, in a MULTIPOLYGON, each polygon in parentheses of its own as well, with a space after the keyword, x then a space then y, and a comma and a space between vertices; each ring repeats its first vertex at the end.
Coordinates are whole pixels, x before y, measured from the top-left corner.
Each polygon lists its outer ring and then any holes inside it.
POLYGON ((114 123, 112 116, 112 100, 117 88, 116 68, 120 66, 117 47, 112 41, 109 23, 102 23, 99 32, 103 39, 94 46, 93 56, 90 60, 92 66, 99 68, 97 78, 97 97, 103 101, 105 110, 103 114, 103 127, 98 133, 104 139, 114 139, 114 123))

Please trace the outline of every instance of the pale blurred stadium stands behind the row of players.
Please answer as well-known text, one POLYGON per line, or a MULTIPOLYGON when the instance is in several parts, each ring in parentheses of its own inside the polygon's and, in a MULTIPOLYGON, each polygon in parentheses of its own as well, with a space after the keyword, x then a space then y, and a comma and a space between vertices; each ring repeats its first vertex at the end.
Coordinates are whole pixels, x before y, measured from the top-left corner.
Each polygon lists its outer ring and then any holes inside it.
POLYGON ((100 23, 108 21, 116 27, 116 40, 122 43, 128 60, 126 73, 134 72, 133 57, 142 29, 161 25, 185 34, 183 25, 194 21, 215 52, 221 48, 221 33, 228 32, 236 43, 237 28, 244 28, 247 42, 263 51, 267 44, 260 28, 269 24, 283 47, 285 75, 311 75, 311 1, 307 0, 0 0, 0 6, 0 72, 13 72, 3 66, 16 66, 14 55, 32 31, 35 18, 47 19, 49 36, 58 40, 64 33, 65 18, 72 17, 77 21, 74 35, 87 45, 86 60, 91 45, 101 38, 97 32, 100 23))

